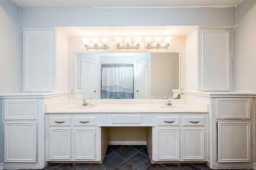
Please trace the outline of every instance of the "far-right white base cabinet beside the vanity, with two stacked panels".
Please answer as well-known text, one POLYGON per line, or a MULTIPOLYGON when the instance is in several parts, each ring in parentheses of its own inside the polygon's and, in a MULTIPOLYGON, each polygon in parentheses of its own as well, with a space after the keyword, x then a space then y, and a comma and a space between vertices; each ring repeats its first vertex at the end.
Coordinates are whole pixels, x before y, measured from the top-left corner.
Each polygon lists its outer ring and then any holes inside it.
POLYGON ((254 95, 213 96, 211 168, 250 169, 254 152, 254 95))

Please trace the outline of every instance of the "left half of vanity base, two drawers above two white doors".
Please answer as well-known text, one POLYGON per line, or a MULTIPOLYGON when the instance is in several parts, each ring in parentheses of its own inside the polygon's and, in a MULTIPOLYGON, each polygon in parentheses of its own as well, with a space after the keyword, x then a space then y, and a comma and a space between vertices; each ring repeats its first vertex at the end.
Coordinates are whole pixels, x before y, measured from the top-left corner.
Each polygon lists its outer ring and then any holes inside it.
POLYGON ((96 118, 79 114, 47 115, 47 161, 100 161, 96 118))

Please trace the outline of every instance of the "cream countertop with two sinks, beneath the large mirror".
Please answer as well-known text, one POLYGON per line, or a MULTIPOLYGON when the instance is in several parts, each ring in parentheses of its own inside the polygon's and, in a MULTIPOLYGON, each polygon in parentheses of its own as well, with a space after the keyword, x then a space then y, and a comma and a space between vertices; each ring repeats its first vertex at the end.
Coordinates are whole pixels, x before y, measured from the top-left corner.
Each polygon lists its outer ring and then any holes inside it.
POLYGON ((45 113, 208 113, 208 110, 188 104, 173 104, 172 106, 164 104, 98 104, 96 106, 67 104, 49 109, 45 113))

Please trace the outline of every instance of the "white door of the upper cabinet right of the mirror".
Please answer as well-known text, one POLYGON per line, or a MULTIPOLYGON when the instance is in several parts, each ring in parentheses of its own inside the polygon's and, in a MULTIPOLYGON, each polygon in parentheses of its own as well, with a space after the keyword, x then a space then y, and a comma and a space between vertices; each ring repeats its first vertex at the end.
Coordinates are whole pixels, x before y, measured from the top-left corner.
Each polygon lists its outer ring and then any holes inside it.
POLYGON ((230 90, 230 31, 202 31, 202 91, 230 90))

